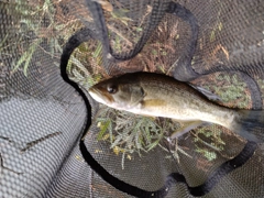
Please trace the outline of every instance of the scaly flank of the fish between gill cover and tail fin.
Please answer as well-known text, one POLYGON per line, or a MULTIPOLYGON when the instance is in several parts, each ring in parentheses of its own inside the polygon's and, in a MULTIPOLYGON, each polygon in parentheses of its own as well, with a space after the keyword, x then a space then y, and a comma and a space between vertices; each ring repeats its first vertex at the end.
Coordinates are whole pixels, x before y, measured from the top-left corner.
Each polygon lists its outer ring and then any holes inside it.
POLYGON ((193 87, 174 78, 140 74, 136 80, 141 81, 140 85, 146 92, 143 103, 147 100, 156 101, 156 105, 155 102, 143 105, 141 107, 143 114, 182 121, 202 120, 226 128, 237 114, 234 110, 213 103, 193 87))

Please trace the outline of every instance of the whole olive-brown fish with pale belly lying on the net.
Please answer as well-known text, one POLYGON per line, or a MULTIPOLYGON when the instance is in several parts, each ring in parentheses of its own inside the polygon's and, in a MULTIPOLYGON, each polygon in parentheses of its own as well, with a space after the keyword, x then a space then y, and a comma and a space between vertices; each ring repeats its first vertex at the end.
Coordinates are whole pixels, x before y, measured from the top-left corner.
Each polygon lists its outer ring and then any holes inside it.
POLYGON ((232 109, 213 102, 199 89, 173 77, 154 73, 129 73, 98 82, 89 95, 110 108, 147 117, 170 118, 185 124, 170 139, 206 124, 219 124, 249 141, 263 142, 253 134, 264 128, 262 110, 232 109))

